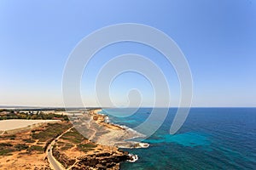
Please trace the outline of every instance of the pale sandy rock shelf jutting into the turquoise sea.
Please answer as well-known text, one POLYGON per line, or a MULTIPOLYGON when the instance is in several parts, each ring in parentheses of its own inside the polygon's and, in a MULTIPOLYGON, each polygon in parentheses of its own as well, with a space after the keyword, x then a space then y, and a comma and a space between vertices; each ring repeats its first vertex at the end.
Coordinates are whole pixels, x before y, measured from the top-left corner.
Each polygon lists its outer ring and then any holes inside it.
POLYGON ((128 127, 108 122, 108 116, 99 114, 102 110, 91 110, 84 114, 79 122, 73 122, 74 127, 79 130, 90 141, 96 144, 117 146, 119 148, 147 148, 149 144, 131 141, 143 134, 132 131, 128 127))

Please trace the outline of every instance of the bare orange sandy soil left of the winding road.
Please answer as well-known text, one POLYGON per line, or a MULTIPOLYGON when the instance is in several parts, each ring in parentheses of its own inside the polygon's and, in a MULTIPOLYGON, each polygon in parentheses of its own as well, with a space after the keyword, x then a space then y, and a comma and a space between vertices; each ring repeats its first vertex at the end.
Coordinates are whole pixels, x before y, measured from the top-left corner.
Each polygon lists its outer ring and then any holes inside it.
MULTIPOLYGON (((26 120, 19 120, 18 122, 22 122, 26 120)), ((15 122, 15 121, 13 121, 15 122)), ((2 151, 3 150, 12 150, 8 154, 0 156, 0 169, 19 169, 19 170, 25 170, 25 169, 44 169, 49 170, 49 162, 46 159, 46 154, 44 153, 44 150, 28 150, 28 148, 31 148, 32 146, 38 146, 41 148, 44 148, 46 141, 42 142, 38 139, 32 139, 32 133, 39 133, 43 132, 46 127, 48 126, 48 123, 46 122, 59 122, 59 121, 32 121, 32 123, 38 123, 36 127, 32 126, 26 131, 18 131, 18 133, 14 134, 3 134, 0 136, 0 144, 2 144, 2 151), (40 125, 40 126, 39 126, 40 125), (41 126, 42 125, 42 126, 41 126), (31 139, 28 141, 28 139, 31 139), (4 147, 3 144, 12 144, 12 146, 4 147), (26 144, 28 147, 27 149, 20 149, 15 150, 15 146, 17 144, 26 144)), ((30 122, 31 123, 31 122, 30 122)), ((28 124, 30 124, 28 123, 28 124)), ((60 123, 66 123, 67 122, 60 122, 60 123)), ((26 125, 28 125, 26 124, 26 125)), ((3 124, 2 124, 3 125, 3 124)), ((16 126, 16 127, 20 127, 16 126)), ((49 138, 50 139, 50 138, 49 138)))

